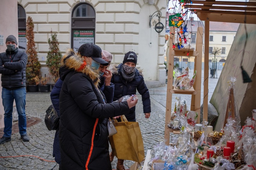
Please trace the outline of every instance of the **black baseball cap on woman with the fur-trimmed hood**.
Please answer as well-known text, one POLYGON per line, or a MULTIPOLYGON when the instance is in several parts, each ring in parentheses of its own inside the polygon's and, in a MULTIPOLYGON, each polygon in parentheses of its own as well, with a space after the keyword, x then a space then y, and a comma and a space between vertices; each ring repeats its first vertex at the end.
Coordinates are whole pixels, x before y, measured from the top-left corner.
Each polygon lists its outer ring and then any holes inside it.
POLYGON ((79 47, 78 52, 82 56, 91 57, 96 62, 102 64, 103 66, 108 66, 108 62, 103 60, 102 57, 102 51, 101 48, 98 45, 95 45, 93 43, 86 43, 79 47))

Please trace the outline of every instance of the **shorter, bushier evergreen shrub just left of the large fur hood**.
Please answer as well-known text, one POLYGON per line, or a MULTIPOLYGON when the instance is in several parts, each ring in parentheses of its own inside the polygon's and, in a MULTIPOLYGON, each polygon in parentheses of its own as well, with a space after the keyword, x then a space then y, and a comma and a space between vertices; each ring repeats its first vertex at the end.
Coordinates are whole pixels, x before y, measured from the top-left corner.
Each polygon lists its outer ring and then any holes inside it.
POLYGON ((51 39, 50 38, 48 39, 48 44, 49 44, 49 51, 47 53, 46 66, 49 69, 49 73, 53 78, 54 83, 56 83, 56 81, 59 79, 59 67, 60 67, 60 60, 62 57, 59 50, 59 42, 57 39, 57 34, 51 34, 51 39))

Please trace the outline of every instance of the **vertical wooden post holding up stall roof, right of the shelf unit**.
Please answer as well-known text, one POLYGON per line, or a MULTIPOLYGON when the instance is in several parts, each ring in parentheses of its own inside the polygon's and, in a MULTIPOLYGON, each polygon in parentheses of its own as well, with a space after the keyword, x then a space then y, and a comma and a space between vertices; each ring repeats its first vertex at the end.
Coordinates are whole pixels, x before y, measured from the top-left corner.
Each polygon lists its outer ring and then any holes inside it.
POLYGON ((208 118, 208 80, 209 80, 209 26, 210 22, 205 22, 205 50, 204 50, 204 83, 203 83, 203 120, 208 118))

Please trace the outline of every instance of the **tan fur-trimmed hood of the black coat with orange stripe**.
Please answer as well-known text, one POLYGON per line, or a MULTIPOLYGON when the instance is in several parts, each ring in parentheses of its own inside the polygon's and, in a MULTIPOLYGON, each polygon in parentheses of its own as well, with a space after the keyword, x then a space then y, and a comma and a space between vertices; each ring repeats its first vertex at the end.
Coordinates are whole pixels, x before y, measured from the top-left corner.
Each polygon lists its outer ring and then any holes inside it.
POLYGON ((75 71, 87 75, 93 81, 95 87, 98 87, 100 82, 99 70, 92 69, 90 65, 87 65, 81 55, 73 49, 67 49, 66 54, 61 59, 61 68, 60 70, 66 70, 59 73, 62 81, 69 72, 75 71))

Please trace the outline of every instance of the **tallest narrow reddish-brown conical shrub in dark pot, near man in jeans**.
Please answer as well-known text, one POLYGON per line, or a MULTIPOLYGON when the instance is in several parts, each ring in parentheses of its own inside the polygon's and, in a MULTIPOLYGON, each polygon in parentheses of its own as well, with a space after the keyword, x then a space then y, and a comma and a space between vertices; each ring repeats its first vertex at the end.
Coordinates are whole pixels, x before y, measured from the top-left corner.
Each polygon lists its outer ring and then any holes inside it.
POLYGON ((26 38, 27 38, 27 49, 28 61, 26 66, 26 82, 27 90, 29 92, 38 91, 38 84, 41 78, 41 64, 38 61, 38 55, 34 41, 34 23, 30 16, 28 16, 26 22, 26 38))

